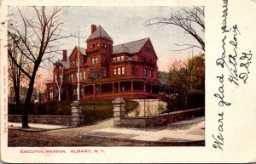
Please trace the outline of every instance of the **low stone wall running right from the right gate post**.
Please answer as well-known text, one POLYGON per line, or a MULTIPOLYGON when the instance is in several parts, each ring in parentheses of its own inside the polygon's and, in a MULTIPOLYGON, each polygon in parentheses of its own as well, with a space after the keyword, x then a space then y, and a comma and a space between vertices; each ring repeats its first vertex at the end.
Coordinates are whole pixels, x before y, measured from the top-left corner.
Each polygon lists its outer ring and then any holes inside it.
POLYGON ((197 116, 204 116, 205 108, 191 110, 180 110, 172 113, 161 114, 160 116, 125 116, 121 118, 120 127, 159 127, 166 124, 188 120, 197 116))

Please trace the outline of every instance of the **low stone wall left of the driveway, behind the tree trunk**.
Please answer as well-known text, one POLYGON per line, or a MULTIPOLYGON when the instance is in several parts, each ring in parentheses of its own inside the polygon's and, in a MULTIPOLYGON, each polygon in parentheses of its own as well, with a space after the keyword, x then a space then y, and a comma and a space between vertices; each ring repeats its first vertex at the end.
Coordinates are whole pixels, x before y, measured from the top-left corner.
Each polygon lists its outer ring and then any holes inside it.
MULTIPOLYGON (((84 116, 81 116, 82 122, 84 122, 84 116)), ((9 122, 22 122, 21 115, 9 115, 9 122)), ((28 116, 29 123, 45 123, 45 124, 55 124, 63 126, 72 125, 72 116, 28 116)))

